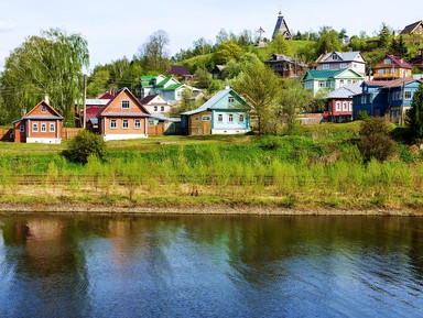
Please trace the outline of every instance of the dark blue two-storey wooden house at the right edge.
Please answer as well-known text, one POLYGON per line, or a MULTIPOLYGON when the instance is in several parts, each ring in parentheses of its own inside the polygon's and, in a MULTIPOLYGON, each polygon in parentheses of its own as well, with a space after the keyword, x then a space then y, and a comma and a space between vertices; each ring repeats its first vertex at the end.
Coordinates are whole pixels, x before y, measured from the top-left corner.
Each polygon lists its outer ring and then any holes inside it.
POLYGON ((362 83, 362 91, 352 97, 352 118, 367 112, 371 117, 388 116, 392 122, 402 123, 421 83, 412 78, 362 83))

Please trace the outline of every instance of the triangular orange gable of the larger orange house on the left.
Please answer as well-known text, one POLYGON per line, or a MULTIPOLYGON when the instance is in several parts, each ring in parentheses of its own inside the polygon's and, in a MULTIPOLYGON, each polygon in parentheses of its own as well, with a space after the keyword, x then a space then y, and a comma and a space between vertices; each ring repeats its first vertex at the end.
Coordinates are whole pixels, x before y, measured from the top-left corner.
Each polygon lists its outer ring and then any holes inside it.
POLYGON ((128 90, 122 89, 106 108, 98 114, 105 116, 149 116, 149 111, 138 101, 138 99, 128 90))

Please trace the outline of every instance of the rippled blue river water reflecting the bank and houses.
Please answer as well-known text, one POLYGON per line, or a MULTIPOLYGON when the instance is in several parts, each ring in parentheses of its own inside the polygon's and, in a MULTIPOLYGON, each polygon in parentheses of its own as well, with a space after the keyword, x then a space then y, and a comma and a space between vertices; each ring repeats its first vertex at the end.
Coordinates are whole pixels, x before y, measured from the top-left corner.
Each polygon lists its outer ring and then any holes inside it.
POLYGON ((423 218, 0 216, 0 317, 423 317, 423 218))

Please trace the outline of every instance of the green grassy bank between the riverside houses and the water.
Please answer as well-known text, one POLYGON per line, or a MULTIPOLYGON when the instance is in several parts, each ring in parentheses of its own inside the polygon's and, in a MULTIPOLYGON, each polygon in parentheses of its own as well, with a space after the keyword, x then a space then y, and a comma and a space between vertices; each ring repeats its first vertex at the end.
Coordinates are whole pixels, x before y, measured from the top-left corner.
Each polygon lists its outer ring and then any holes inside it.
POLYGON ((364 164, 358 129, 112 142, 104 162, 85 166, 61 155, 66 144, 1 144, 0 204, 420 210, 421 154, 399 145, 391 161, 364 164))

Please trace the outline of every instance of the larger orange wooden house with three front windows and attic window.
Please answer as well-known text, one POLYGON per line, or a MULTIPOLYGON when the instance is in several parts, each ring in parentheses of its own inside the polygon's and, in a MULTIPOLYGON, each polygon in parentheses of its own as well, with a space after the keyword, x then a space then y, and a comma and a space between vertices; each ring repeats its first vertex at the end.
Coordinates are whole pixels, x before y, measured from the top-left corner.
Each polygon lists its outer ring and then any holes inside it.
POLYGON ((97 114, 99 133, 105 141, 147 138, 149 111, 122 88, 97 114))

